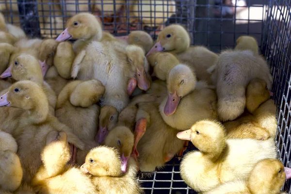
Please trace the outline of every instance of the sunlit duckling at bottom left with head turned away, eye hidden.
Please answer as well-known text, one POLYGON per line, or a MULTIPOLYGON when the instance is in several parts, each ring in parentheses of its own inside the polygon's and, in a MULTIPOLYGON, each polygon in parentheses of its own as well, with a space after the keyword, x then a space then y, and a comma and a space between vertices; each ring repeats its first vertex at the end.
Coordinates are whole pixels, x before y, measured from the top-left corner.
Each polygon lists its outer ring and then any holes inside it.
POLYGON ((45 144, 41 153, 43 164, 32 179, 35 191, 42 194, 97 194, 90 177, 67 164, 71 156, 64 131, 49 132, 45 144))

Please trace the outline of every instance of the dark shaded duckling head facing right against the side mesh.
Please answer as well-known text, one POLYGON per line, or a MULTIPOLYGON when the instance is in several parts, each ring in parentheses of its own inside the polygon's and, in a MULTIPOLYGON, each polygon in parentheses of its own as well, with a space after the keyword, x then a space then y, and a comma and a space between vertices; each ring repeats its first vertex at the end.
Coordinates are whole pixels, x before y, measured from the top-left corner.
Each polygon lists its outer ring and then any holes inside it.
POLYGON ((270 99, 271 95, 273 93, 268 90, 266 81, 255 78, 249 82, 246 88, 246 109, 253 113, 263 102, 270 99))

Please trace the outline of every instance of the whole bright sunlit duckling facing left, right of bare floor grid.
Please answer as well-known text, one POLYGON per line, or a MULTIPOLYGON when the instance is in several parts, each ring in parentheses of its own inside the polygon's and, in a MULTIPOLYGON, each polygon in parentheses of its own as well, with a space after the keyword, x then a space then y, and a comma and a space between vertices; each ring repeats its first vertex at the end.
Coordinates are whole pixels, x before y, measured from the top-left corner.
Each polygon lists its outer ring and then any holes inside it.
POLYGON ((177 137, 190 140, 198 148, 186 154, 180 164, 181 177, 197 192, 209 191, 238 177, 247 178, 257 162, 276 157, 273 139, 226 140, 223 125, 216 121, 198 121, 177 137))

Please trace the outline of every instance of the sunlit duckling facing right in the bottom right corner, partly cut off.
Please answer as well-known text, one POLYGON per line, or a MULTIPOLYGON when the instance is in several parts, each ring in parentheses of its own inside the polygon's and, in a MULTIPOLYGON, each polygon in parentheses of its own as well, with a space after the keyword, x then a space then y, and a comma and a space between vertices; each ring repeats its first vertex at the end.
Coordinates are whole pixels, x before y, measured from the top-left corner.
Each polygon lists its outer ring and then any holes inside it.
POLYGON ((280 191, 290 168, 275 159, 259 161, 246 179, 226 182, 205 194, 286 194, 280 191), (284 172, 285 171, 285 172, 284 172))

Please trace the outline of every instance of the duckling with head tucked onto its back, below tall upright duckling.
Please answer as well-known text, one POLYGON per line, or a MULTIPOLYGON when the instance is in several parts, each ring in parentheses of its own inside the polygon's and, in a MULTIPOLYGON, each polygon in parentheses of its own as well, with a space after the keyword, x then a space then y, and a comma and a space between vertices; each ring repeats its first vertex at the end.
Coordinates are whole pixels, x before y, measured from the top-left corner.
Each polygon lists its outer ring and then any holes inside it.
POLYGON ((56 117, 86 142, 86 150, 77 150, 77 164, 83 164, 88 151, 98 146, 94 138, 100 109, 95 103, 99 101, 104 91, 104 86, 98 80, 71 81, 58 97, 56 117))

